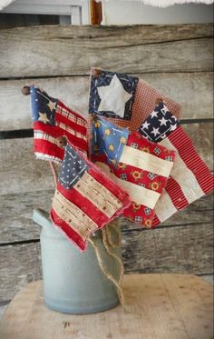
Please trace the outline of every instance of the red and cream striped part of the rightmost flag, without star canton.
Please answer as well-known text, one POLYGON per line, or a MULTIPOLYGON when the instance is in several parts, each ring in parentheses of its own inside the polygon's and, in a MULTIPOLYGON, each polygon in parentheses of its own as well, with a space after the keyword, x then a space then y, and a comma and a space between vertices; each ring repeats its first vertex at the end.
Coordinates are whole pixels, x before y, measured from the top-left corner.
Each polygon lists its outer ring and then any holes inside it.
POLYGON ((152 226, 163 223, 172 214, 213 190, 213 175, 182 127, 179 126, 157 145, 168 147, 177 155, 166 189, 155 206, 152 226))

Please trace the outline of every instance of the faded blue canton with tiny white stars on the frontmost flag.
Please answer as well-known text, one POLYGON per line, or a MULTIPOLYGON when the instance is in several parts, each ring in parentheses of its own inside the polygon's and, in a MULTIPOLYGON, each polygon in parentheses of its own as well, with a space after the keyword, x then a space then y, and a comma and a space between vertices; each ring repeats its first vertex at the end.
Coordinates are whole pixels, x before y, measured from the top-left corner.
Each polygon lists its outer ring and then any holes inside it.
POLYGON ((88 168, 89 165, 73 147, 66 145, 58 181, 64 188, 71 189, 88 168))

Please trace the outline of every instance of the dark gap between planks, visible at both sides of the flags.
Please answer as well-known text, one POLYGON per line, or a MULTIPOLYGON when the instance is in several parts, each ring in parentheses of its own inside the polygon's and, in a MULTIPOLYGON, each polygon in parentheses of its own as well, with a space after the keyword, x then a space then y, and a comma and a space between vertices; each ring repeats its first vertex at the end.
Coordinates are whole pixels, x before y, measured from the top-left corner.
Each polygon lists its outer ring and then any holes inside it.
MULTIPOLYGON (((181 119, 180 125, 189 125, 189 124, 209 124, 214 123, 214 118, 208 119, 181 119)), ((17 130, 10 130, 10 131, 0 131, 0 140, 5 139, 18 139, 18 138, 29 138, 34 136, 34 129, 17 129, 17 130)))

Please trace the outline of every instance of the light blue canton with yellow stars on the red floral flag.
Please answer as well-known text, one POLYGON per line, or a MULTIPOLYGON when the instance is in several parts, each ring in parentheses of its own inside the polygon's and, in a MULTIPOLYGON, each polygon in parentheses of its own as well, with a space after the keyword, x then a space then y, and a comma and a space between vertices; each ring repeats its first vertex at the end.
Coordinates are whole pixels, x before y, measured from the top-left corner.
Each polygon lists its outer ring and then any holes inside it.
POLYGON ((101 116, 97 117, 92 122, 91 154, 105 154, 109 163, 118 163, 129 134, 128 129, 114 125, 101 116))

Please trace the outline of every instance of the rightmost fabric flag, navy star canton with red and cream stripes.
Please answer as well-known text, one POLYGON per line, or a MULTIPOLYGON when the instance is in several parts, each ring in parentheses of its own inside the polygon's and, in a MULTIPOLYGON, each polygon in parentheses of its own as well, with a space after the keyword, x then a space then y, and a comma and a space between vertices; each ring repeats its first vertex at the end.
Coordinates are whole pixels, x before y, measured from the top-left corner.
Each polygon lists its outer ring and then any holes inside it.
POLYGON ((213 189, 213 176, 197 155, 190 137, 178 126, 177 119, 163 103, 155 107, 138 132, 152 141, 160 141, 157 145, 176 152, 170 178, 155 206, 156 216, 152 226, 156 226, 201 196, 209 194, 213 189), (164 107, 164 110, 160 107, 164 107), (164 124, 161 125, 161 122, 164 124), (152 134, 154 130, 156 135, 152 134))

